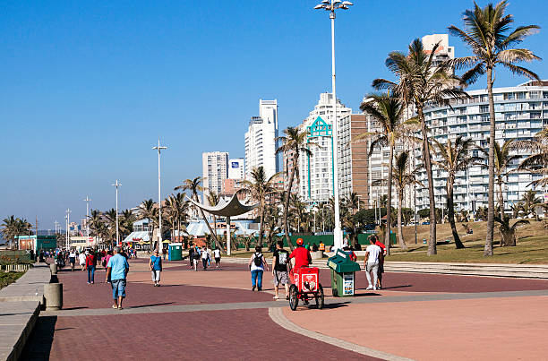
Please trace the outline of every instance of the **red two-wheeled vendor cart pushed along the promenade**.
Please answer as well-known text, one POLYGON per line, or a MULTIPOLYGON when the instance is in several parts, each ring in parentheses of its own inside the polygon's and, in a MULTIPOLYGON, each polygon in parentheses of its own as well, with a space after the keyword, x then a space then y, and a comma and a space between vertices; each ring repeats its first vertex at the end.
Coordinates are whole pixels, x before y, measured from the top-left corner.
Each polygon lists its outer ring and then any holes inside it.
POLYGON ((316 307, 323 308, 323 288, 320 283, 320 270, 316 267, 301 267, 296 269, 289 287, 289 307, 293 311, 299 305, 299 299, 308 304, 309 298, 314 298, 316 307))

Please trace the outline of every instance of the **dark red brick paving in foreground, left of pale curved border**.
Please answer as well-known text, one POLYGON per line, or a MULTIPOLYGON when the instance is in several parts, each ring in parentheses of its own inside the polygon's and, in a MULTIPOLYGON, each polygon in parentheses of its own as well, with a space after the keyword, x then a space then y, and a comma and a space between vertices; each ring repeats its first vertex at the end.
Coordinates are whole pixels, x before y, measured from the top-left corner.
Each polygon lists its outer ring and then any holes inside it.
MULTIPOLYGON (((312 317, 314 310, 310 312, 312 317)), ((81 361, 375 359, 287 331, 270 320, 267 309, 41 317, 21 359, 47 357, 81 361)))

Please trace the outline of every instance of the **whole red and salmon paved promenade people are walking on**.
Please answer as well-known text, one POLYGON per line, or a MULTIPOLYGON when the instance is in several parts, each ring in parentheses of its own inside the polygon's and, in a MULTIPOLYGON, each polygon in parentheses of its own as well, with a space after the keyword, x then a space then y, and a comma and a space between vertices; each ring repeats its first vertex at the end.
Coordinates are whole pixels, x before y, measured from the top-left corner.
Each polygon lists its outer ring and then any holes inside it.
MULTIPOLYGON (((247 266, 190 271, 165 262, 152 287, 145 260, 131 260, 124 310, 114 310, 105 271, 60 271, 64 309, 42 312, 22 359, 542 359, 548 355, 548 280, 387 273, 385 289, 289 310, 253 292, 247 266)), ((200 269, 199 269, 200 270, 200 269)), ((329 271, 321 283, 330 296, 329 271)), ((283 292, 282 292, 283 294, 283 292)))

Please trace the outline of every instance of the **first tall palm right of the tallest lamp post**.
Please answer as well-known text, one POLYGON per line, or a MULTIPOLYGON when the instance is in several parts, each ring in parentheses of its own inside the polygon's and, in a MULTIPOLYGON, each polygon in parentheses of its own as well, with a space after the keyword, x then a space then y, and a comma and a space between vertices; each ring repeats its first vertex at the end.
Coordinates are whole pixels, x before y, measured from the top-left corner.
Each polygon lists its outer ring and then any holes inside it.
MULTIPOLYGON (((405 135, 406 127, 411 124, 416 124, 415 118, 409 119, 406 122, 403 121, 403 112, 405 109, 404 104, 398 99, 397 96, 382 94, 372 94, 367 97, 361 105, 360 109, 372 117, 372 119, 381 128, 380 132, 364 133, 358 135, 355 139, 359 141, 364 136, 372 135, 374 138, 371 142, 369 156, 372 151, 379 146, 388 146, 390 149, 389 154, 389 174, 388 174, 388 191, 387 197, 389 202, 388 209, 391 209, 392 203, 392 165, 394 161, 394 149, 396 148, 396 142, 401 140, 405 135)), ((386 253, 390 254, 390 211, 386 213, 386 224, 388 225, 388 231, 386 232, 386 253)))

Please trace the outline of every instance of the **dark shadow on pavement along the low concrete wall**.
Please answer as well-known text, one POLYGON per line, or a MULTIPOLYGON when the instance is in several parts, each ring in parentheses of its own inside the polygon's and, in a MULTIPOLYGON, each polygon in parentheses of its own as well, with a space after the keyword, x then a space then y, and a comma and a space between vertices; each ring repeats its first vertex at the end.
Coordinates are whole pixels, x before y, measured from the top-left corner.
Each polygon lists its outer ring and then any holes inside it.
POLYGON ((39 317, 23 348, 20 360, 49 360, 56 322, 57 316, 39 317))

